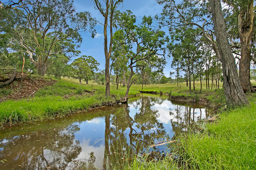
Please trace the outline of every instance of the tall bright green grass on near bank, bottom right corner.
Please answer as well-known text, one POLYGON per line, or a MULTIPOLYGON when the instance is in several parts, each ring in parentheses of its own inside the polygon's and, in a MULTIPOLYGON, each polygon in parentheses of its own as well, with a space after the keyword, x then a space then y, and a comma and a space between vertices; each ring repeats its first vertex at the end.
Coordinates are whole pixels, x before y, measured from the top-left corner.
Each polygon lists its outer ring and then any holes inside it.
POLYGON ((221 114, 203 134, 180 138, 179 148, 191 169, 256 169, 256 105, 221 114))

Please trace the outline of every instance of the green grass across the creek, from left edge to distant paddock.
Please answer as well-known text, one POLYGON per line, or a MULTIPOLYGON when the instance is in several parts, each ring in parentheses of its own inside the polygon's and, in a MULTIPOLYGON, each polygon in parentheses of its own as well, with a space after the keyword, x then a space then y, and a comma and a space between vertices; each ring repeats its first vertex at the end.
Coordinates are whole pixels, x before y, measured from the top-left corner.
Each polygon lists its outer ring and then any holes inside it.
MULTIPOLYGON (((16 82, 16 85, 19 85, 19 83, 16 82)), ((222 84, 220 84, 220 87, 222 87, 222 84)), ((129 95, 139 95, 140 90, 142 90, 142 85, 132 85, 129 95)), ((186 83, 180 83, 179 87, 177 87, 177 84, 145 85, 143 90, 156 91, 158 93, 171 92, 172 96, 193 97, 196 95, 198 97, 200 95, 200 97, 209 98, 210 100, 218 99, 216 98, 214 87, 207 90, 206 86, 203 85, 202 92, 199 94, 200 82, 195 83, 195 91, 192 91, 191 94, 189 94, 189 88, 186 87, 186 83)), ((1 92, 2 96, 12 95, 13 93, 11 88, 1 91, 10 91, 6 94, 1 92)), ((82 81, 82 84, 79 84, 77 79, 62 78, 54 86, 46 86, 39 89, 33 94, 33 97, 18 101, 7 100, 1 102, 0 125, 62 117, 90 107, 114 103, 123 97, 125 92, 126 87, 119 86, 119 89, 116 90, 116 85, 111 84, 111 97, 105 97, 104 85, 98 85, 94 81, 89 81, 89 84, 82 81)))

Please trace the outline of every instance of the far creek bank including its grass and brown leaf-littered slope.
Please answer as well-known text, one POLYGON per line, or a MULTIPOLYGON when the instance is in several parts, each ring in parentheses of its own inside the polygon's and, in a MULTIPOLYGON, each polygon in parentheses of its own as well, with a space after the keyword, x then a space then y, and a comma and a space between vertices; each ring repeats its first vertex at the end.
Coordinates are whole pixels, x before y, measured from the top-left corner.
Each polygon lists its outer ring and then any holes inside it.
MULTIPOLYGON (((198 85, 200 83, 196 83, 196 90, 192 94, 188 93, 186 83, 181 83, 180 87, 175 84, 146 85, 144 89, 158 93, 171 92, 172 99, 179 101, 191 102, 194 97, 194 102, 202 101, 200 104, 207 106, 209 102, 205 96, 214 96, 214 89, 203 89, 198 94, 198 85)), ((141 85, 132 85, 129 96, 140 96, 140 90, 141 85)), ((78 80, 72 78, 57 81, 32 75, 23 78, 23 82, 18 79, 1 89, 0 126, 54 119, 88 108, 117 104, 123 101, 125 92, 126 87, 116 90, 116 85, 111 85, 111 96, 106 97, 105 86, 93 81, 79 84, 78 80)))

